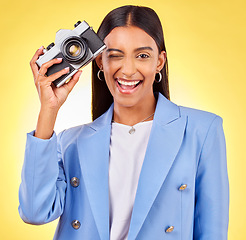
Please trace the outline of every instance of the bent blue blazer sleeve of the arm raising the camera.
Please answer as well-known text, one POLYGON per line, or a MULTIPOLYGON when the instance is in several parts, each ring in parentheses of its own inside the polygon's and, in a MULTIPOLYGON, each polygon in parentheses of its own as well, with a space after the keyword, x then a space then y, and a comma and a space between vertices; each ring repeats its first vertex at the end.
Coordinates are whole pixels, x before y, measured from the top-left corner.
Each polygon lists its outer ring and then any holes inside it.
POLYGON ((38 139, 27 134, 19 188, 19 214, 24 222, 44 224, 64 209, 66 178, 57 136, 38 139))

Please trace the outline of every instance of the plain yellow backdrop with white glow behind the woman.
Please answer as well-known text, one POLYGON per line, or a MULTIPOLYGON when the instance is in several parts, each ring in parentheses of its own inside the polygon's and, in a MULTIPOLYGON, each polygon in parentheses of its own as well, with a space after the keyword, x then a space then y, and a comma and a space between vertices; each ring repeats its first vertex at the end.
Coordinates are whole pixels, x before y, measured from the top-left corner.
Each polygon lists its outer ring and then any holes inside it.
MULTIPOLYGON (((0 7, 0 239, 52 239, 57 222, 32 226, 18 215, 26 132, 39 100, 29 61, 60 28, 86 20, 97 30, 107 12, 125 4, 154 8, 163 23, 171 99, 224 119, 230 180, 229 240, 246 239, 245 0, 22 0, 0 7)), ((56 131, 90 121, 90 66, 61 109, 56 131)))

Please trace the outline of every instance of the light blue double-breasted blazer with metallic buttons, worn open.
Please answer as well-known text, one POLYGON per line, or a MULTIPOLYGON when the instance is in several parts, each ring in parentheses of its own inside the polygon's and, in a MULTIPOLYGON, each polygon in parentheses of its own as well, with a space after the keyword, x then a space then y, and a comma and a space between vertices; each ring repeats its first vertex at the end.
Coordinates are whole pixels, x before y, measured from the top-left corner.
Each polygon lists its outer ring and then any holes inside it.
MULTIPOLYGON (((25 222, 60 217, 54 239, 109 239, 112 114, 113 106, 49 140, 27 135, 19 191, 25 222)), ((228 195, 222 119, 159 94, 128 240, 225 240, 228 195)))

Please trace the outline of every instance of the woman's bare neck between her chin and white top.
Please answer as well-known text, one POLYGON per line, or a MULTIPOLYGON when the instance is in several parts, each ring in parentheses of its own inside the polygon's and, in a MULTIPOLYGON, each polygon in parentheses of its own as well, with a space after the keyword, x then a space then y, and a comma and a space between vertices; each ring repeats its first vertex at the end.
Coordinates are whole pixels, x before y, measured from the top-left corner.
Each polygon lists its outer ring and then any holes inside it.
MULTIPOLYGON (((154 96, 151 101, 138 106, 126 107, 114 103, 113 120, 117 123, 133 126, 151 116, 155 112, 155 107, 156 100, 154 96)), ((153 120, 153 118, 154 115, 146 119, 146 121, 153 120)))

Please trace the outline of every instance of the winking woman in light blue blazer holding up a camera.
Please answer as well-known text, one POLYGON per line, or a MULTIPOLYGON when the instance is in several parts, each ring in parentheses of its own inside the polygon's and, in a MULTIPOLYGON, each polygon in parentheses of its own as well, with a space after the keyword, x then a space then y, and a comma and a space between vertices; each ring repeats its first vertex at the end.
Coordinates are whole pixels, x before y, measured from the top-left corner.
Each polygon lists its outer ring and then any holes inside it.
POLYGON ((54 239, 227 239, 228 178, 222 119, 168 100, 160 20, 146 7, 110 12, 93 62, 93 122, 53 132, 77 83, 31 68, 41 101, 27 136, 19 212, 25 222, 58 217, 54 239))

